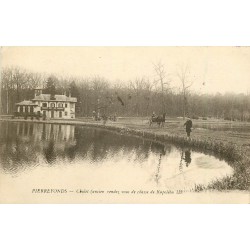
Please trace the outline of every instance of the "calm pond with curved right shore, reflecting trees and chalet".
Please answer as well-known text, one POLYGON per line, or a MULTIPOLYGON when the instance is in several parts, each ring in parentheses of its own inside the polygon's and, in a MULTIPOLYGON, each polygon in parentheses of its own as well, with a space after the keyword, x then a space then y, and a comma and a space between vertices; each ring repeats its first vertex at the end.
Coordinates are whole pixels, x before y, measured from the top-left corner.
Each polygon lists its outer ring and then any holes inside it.
POLYGON ((233 174, 223 160, 145 138, 74 125, 0 122, 2 178, 38 186, 193 190, 233 174))

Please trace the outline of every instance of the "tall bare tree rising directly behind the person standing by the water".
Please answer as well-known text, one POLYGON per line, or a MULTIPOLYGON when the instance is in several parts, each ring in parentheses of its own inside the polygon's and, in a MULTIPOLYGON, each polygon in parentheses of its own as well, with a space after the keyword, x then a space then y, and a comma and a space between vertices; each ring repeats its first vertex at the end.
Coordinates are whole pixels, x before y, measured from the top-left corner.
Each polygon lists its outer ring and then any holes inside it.
POLYGON ((177 69, 177 77, 181 82, 181 94, 182 94, 182 111, 183 119, 185 119, 188 113, 188 93, 189 88, 193 85, 193 80, 191 78, 190 69, 188 64, 181 64, 177 69))

